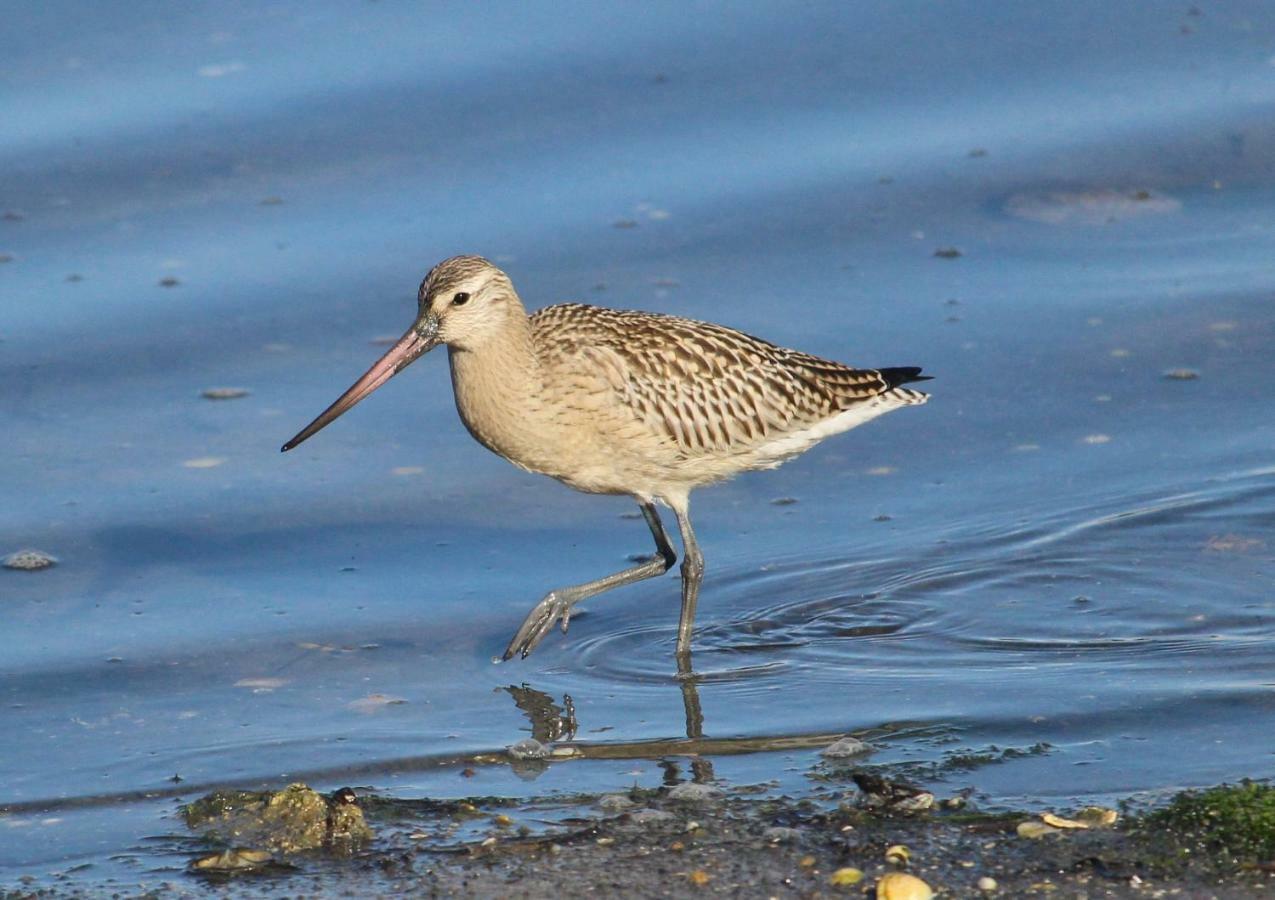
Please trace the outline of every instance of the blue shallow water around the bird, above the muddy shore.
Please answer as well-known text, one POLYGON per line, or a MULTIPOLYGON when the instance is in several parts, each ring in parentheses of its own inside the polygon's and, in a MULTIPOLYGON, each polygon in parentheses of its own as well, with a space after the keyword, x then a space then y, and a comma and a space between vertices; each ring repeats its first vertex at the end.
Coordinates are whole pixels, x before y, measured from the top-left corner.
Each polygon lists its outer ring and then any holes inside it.
POLYGON ((60 563, 0 570, 0 867, 162 869, 214 784, 658 784, 688 728, 790 793, 843 732, 1047 743, 942 785, 991 804, 1271 775, 1275 13, 1030 6, 13 11, 0 553, 60 563), (441 352, 278 453, 456 252, 933 399, 696 495, 692 685, 674 575, 493 665, 630 502, 474 445, 441 352), (616 758, 456 778, 564 695, 616 758))

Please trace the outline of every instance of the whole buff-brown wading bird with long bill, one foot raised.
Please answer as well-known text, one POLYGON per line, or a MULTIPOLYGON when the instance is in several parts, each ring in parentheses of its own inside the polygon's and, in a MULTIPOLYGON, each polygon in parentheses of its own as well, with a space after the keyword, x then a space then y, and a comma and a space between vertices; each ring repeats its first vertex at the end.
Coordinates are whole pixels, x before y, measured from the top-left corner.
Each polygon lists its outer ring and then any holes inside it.
POLYGON ((580 600, 673 566, 660 502, 682 534, 677 657, 688 660, 704 576, 691 491, 928 399, 903 386, 928 379, 919 368, 852 368, 710 323, 581 303, 527 315, 509 275, 479 256, 439 263, 417 300, 402 339, 283 450, 446 344, 456 409, 479 444, 578 491, 632 497, 655 539, 648 562, 551 590, 505 659, 525 658, 556 622, 565 632, 580 600))

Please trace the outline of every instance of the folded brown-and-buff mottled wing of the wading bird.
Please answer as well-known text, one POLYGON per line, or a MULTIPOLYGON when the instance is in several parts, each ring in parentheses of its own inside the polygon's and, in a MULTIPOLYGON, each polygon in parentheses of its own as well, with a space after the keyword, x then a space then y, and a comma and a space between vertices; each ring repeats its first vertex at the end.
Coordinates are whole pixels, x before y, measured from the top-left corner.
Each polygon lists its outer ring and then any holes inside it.
POLYGON ((538 340, 604 374, 617 399, 687 455, 742 451, 890 390, 875 370, 789 351, 722 325, 564 303, 538 340))

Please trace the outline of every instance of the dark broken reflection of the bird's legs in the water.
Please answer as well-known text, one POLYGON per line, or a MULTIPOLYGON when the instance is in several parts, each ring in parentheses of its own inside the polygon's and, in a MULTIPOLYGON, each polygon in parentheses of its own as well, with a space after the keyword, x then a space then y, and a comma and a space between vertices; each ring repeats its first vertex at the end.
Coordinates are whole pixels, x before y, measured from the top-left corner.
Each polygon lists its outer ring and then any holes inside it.
MULTIPOLYGON (((649 748, 646 758, 657 760, 664 773, 664 784, 673 785, 686 780, 683 760, 690 760, 690 779, 696 783, 706 783, 714 779, 713 761, 701 756, 704 742, 704 710, 700 706, 699 691, 700 676, 691 669, 690 655, 678 657, 677 685, 682 693, 682 711, 686 716, 686 739, 657 741, 641 744, 649 748)), ((544 691, 538 691, 527 683, 510 685, 500 688, 509 692, 514 699, 514 705, 521 710, 528 722, 532 723, 532 737, 541 743, 574 742, 579 730, 579 722, 575 718, 575 704, 571 695, 564 693, 562 702, 558 704, 544 691)), ((613 756, 638 757, 634 744, 578 744, 576 750, 581 756, 613 756), (608 752, 612 751, 612 752, 608 752)), ((519 760, 515 771, 520 778, 537 778, 548 767, 547 760, 519 760)))

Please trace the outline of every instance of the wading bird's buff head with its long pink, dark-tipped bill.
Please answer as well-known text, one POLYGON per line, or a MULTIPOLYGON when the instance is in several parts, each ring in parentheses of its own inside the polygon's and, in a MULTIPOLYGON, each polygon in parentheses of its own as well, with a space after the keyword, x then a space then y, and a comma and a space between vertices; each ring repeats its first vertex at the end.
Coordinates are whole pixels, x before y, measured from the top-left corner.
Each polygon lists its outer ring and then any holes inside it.
POLYGON ((412 328, 283 450, 326 427, 439 344, 474 349, 497 334, 511 315, 525 315, 509 275, 482 256, 453 256, 430 269, 417 303, 412 328))

